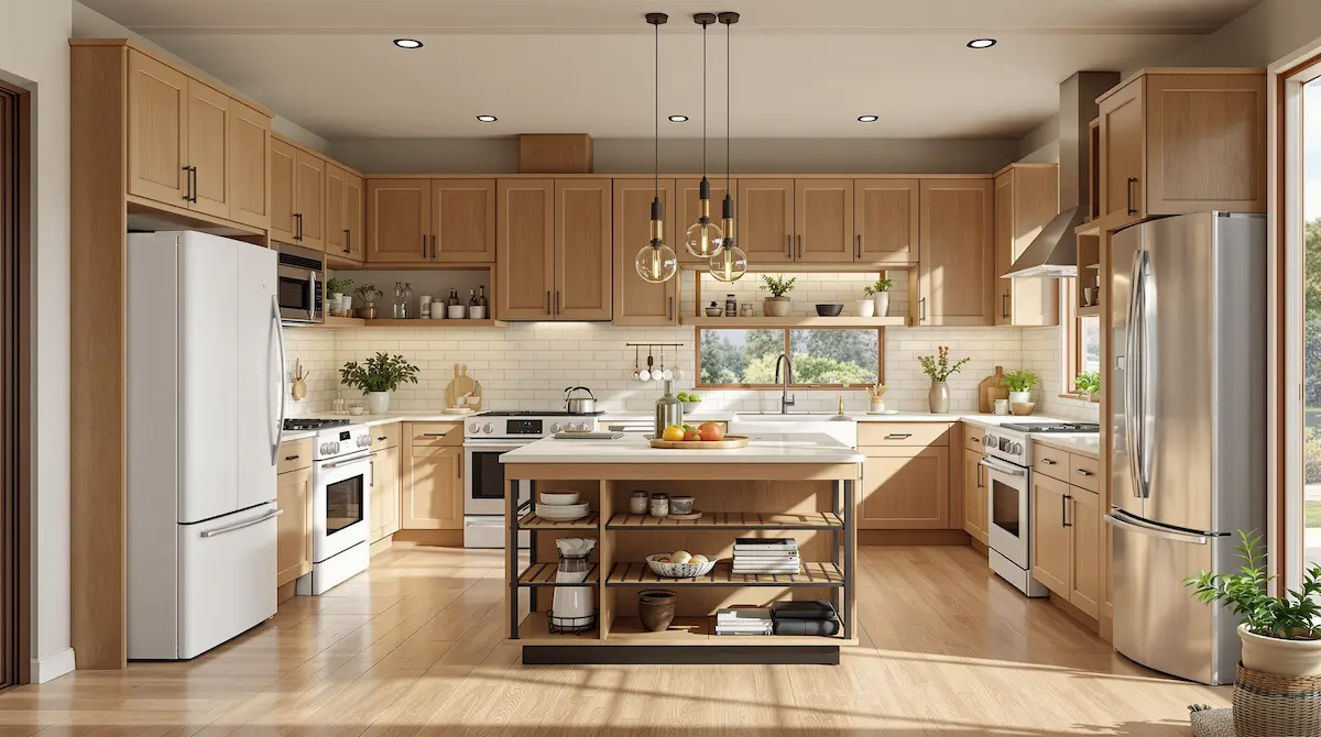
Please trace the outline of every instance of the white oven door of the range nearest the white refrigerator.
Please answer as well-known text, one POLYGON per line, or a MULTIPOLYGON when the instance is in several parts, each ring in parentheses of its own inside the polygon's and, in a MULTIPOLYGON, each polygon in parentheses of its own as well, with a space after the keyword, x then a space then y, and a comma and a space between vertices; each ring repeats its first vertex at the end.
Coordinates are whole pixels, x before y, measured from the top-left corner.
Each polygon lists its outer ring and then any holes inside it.
POLYGON ((312 559, 321 563, 367 542, 371 453, 318 461, 312 490, 312 559))

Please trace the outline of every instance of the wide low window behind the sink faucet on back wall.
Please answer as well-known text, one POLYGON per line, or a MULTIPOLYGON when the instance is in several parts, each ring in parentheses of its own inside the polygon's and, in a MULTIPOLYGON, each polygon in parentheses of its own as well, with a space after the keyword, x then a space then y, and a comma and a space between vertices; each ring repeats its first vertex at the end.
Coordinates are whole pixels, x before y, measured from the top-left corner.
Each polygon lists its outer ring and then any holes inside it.
POLYGON ((884 380, 880 330, 697 329, 699 388, 770 388, 789 354, 801 388, 861 388, 884 380))

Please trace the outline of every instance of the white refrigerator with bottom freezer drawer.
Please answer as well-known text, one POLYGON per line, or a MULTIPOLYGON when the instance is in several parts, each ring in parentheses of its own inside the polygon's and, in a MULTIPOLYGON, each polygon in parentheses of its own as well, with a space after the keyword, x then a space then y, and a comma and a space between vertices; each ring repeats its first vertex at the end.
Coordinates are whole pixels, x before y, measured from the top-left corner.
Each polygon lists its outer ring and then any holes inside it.
POLYGON ((128 236, 128 656, 189 659, 276 610, 276 254, 128 236))

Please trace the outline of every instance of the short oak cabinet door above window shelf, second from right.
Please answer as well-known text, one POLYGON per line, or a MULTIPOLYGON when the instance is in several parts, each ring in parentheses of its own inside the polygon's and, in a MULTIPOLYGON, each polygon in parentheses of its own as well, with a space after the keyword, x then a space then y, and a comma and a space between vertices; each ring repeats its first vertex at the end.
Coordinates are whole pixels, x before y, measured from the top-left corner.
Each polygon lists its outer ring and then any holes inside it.
POLYGON ((794 260, 853 263, 853 180, 794 180, 794 260))

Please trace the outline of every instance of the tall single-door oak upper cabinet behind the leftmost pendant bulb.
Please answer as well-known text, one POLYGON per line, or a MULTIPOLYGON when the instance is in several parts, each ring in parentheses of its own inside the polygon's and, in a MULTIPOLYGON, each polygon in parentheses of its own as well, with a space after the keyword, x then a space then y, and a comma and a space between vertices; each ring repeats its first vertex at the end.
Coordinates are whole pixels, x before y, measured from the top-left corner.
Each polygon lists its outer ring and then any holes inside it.
MULTIPOLYGON (((614 180, 614 318, 616 325, 678 325, 679 275, 651 284, 634 267, 638 251, 651 240, 651 199, 664 207, 664 240, 675 246, 675 181, 660 180, 659 192, 651 180, 614 180)), ((683 250, 680 243, 675 251, 683 250)))

